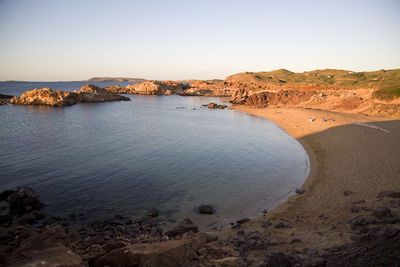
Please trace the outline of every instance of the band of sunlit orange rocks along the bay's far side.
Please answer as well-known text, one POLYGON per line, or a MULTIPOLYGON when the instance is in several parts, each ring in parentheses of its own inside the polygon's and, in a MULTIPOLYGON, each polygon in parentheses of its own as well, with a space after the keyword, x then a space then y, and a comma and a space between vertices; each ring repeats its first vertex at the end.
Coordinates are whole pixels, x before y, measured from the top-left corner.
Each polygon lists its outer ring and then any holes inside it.
POLYGON ((122 87, 85 85, 76 92, 50 88, 27 91, 0 104, 69 106, 78 102, 129 101, 119 94, 230 97, 234 105, 249 107, 301 107, 352 114, 400 117, 398 100, 375 97, 376 88, 341 88, 333 85, 268 83, 255 81, 141 81, 122 87))

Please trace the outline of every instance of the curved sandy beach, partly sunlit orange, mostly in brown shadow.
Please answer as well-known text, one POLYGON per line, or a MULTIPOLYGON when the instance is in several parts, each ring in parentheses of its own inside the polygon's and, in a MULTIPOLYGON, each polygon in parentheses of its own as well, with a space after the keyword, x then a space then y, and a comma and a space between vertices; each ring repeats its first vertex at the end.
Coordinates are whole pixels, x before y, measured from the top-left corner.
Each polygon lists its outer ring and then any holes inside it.
POLYGON ((310 157, 311 172, 302 186, 305 193, 291 196, 245 225, 245 229, 256 229, 263 221, 290 222, 288 229, 265 230, 289 241, 276 246, 278 251, 323 249, 349 242, 349 219, 371 214, 370 207, 382 203, 376 198, 380 191, 400 188, 400 120, 303 108, 234 109, 274 121, 310 157), (290 242, 294 238, 301 242, 290 242))

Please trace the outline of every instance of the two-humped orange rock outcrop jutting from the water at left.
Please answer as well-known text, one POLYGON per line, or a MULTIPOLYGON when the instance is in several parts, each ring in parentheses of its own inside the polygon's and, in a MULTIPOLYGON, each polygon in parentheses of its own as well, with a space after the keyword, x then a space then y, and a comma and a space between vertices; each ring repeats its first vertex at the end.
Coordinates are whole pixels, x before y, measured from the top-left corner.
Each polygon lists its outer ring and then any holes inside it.
POLYGON ((51 107, 71 106, 78 102, 130 101, 128 97, 113 94, 94 85, 84 85, 76 92, 64 92, 50 88, 34 89, 13 97, 9 103, 16 105, 43 105, 51 107))

